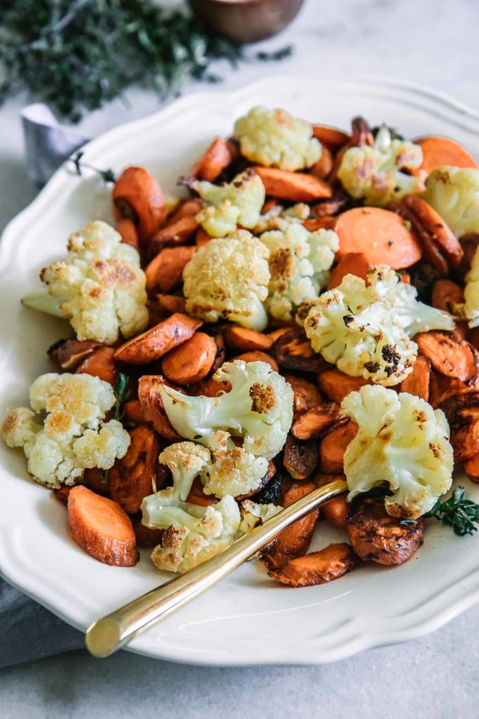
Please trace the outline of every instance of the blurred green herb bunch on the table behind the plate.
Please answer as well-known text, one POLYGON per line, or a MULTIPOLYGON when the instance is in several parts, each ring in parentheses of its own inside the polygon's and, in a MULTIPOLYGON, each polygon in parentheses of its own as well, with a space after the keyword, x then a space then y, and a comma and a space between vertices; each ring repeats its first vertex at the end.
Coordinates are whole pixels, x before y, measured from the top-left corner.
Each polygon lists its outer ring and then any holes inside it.
MULTIPOLYGON (((0 103, 27 90, 71 122, 131 83, 164 97, 191 78, 218 81, 208 72, 215 59, 232 65, 248 59, 241 45, 154 0, 3 0, 1 6, 0 103)), ((290 52, 256 58, 279 60, 290 52)))

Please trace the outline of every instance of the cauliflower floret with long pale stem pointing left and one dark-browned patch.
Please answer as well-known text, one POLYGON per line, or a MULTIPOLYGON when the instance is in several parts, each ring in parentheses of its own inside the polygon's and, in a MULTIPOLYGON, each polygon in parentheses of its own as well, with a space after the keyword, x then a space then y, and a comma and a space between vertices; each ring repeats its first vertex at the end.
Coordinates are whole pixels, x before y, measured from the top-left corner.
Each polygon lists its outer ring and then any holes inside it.
POLYGON ((293 390, 266 362, 225 362, 215 373, 231 391, 219 397, 190 397, 167 385, 160 392, 165 411, 178 434, 212 446, 220 429, 243 437, 243 449, 272 459, 287 438, 293 416, 293 390))

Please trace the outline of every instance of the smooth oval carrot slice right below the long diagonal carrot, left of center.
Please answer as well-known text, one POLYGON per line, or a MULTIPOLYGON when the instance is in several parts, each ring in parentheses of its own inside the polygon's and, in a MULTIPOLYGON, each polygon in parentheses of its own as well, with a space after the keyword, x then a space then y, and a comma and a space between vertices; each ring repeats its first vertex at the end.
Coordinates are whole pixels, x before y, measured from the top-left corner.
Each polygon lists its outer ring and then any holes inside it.
POLYGON ((213 337, 195 332, 186 342, 164 356, 164 375, 177 385, 192 385, 208 375, 216 357, 213 337))

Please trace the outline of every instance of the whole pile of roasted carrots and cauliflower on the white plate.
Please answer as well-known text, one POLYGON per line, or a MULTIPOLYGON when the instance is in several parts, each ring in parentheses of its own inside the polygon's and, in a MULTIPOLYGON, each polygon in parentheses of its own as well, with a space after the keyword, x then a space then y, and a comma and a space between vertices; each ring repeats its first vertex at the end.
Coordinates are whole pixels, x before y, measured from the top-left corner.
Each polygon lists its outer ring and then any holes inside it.
MULTIPOLYGON (((111 178, 112 173, 103 173, 111 178)), ((118 175, 24 304, 70 321, 4 419, 73 539, 187 572, 338 477, 261 559, 291 587, 401 564, 479 505, 479 169, 452 139, 254 108, 167 202, 118 175), (186 188, 186 189, 185 189, 186 188), (180 193, 179 193, 180 194, 180 193), (66 334, 66 333, 65 333, 66 334), (88 381, 87 381, 88 380, 88 381), (338 544, 308 549, 323 522, 338 544)))

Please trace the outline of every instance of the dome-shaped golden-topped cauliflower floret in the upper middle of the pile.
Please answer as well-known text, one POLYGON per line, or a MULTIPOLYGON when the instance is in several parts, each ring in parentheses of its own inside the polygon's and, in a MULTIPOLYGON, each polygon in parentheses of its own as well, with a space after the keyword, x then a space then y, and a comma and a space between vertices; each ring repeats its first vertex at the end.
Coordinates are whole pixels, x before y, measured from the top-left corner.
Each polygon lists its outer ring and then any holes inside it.
POLYGON ((257 330, 268 321, 269 252, 246 230, 212 239, 183 272, 186 311, 207 322, 229 319, 257 330))

